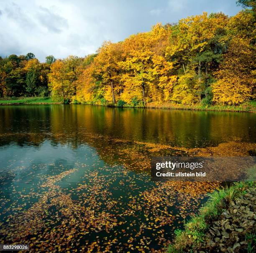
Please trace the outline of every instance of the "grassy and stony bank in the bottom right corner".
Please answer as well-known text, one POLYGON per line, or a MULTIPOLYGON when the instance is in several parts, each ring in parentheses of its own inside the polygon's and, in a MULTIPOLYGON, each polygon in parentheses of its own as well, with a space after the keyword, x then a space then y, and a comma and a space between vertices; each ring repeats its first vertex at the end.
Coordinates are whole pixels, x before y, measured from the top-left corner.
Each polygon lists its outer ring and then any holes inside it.
MULTIPOLYGON (((174 243, 167 248, 167 253, 199 252, 200 250, 204 252, 206 250, 207 252, 222 247, 228 248, 227 238, 232 240, 235 237, 239 240, 236 243, 231 242, 233 249, 231 248, 228 252, 234 252, 234 247, 238 247, 238 249, 241 245, 244 247, 245 245, 243 244, 247 245, 248 252, 253 252, 253 244, 256 238, 255 230, 253 231, 252 229, 254 221, 252 218, 253 212, 250 210, 250 203, 251 198, 255 199, 253 195, 255 195, 256 168, 248 169, 247 176, 247 181, 236 182, 228 188, 216 190, 208 194, 209 199, 207 203, 200 209, 197 215, 194 215, 191 220, 185 223, 184 230, 178 229, 174 231, 176 237, 174 243), (248 195, 246 195, 247 193, 248 195), (238 198, 240 200, 234 202, 238 198), (239 214, 240 211, 245 213, 239 214), (233 217, 234 214, 241 215, 241 217, 233 217), (241 218, 245 218, 243 224, 239 224, 243 228, 239 228, 239 225, 236 225, 236 221, 241 220, 241 218), (229 225, 229 219, 231 220, 231 226, 229 225), (248 228, 247 223, 249 223, 248 228), (224 224, 225 226, 223 226, 224 224), (233 236, 230 237, 226 230, 229 233, 233 233, 233 236), (238 232, 240 233, 239 236, 235 234, 238 232), (252 236, 248 239, 248 235, 252 236), (224 236, 224 244, 221 240, 222 236, 224 236), (241 238, 245 239, 245 241, 241 240, 241 238), (240 244, 240 242, 243 243, 240 244)), ((255 206, 253 210, 255 210, 255 206)), ((223 248, 220 250, 223 251, 223 248)))

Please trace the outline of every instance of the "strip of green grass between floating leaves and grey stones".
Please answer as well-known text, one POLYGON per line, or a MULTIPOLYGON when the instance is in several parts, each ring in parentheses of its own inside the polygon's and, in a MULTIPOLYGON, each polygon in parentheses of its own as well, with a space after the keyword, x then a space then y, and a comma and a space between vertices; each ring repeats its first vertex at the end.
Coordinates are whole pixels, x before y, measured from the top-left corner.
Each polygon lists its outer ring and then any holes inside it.
POLYGON ((253 187, 255 187, 255 181, 237 182, 229 188, 209 194, 207 203, 200 209, 198 215, 185 223, 184 230, 174 231, 176 235, 174 243, 169 245, 166 253, 200 252, 202 248, 205 252, 205 244, 209 239, 207 233, 212 224, 222 219, 223 212, 230 208, 233 200, 245 195, 247 190, 253 187))

